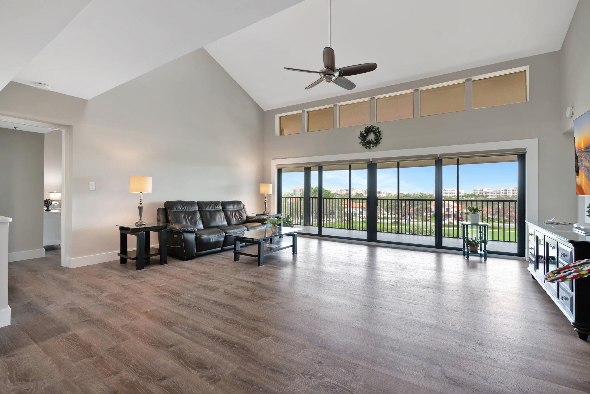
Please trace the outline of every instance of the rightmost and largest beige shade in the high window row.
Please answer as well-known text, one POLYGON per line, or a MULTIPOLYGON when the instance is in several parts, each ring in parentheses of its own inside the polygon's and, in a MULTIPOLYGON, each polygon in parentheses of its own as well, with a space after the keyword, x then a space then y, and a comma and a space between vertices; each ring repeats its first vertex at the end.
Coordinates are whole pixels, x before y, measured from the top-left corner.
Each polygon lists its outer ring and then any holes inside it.
POLYGON ((472 108, 486 108, 525 101, 526 71, 473 81, 472 108))

